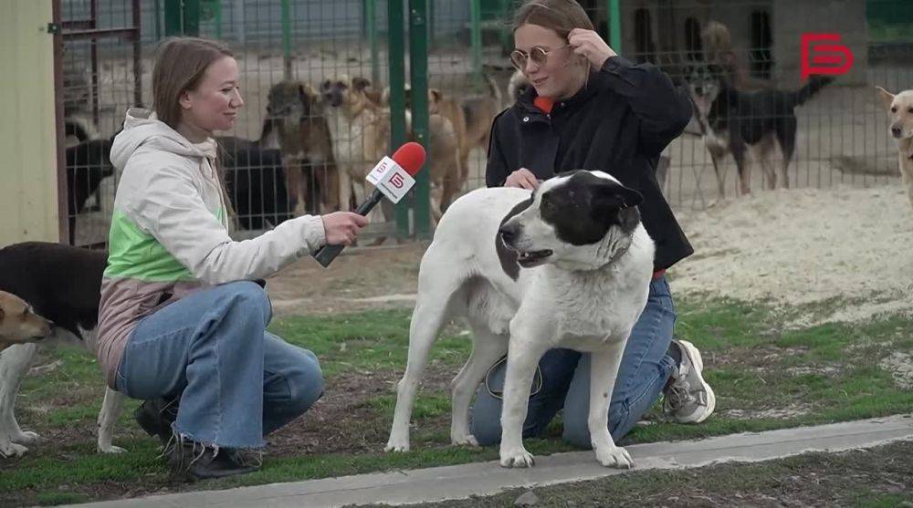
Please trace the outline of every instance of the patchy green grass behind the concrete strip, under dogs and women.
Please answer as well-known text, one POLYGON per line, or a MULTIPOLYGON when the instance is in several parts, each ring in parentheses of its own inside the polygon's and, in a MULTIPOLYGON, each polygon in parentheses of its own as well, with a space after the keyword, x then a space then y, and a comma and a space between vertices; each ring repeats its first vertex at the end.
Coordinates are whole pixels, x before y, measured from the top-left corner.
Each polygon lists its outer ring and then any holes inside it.
MULTIPOLYGON (((829 302, 820 311, 825 314, 840 305, 829 302)), ((677 335, 700 348, 706 378, 718 395, 717 413, 700 425, 677 425, 663 420, 657 405, 624 443, 771 430, 913 409, 913 393, 897 387, 891 373, 878 367, 879 359, 894 352, 913 353, 911 320, 890 317, 788 329, 783 323, 789 316, 763 303, 679 300, 677 310, 677 335)), ((157 442, 131 421, 136 401, 129 402, 115 434, 115 444, 128 453, 96 454, 95 418, 103 394, 98 366, 76 348, 45 352, 39 363, 61 359, 62 366, 26 378, 17 414, 24 428, 37 430, 47 441, 30 447, 25 458, 0 461, 0 504, 71 503, 497 458, 495 447, 449 446, 448 383, 470 348, 460 325, 447 327, 433 349, 414 411, 413 451, 383 453, 393 418, 394 383, 405 364, 409 316, 408 310, 387 310, 274 322, 272 331, 320 358, 327 393, 304 418, 269 437, 262 471, 194 485, 169 480, 157 459, 157 442)), ((556 419, 545 437, 528 442, 530 451, 571 450, 560 435, 561 421, 556 419)), ((873 492, 866 503, 893 499, 890 492, 881 495, 873 492)))

